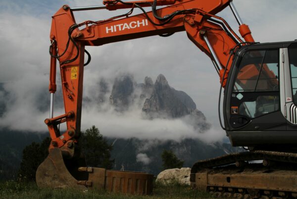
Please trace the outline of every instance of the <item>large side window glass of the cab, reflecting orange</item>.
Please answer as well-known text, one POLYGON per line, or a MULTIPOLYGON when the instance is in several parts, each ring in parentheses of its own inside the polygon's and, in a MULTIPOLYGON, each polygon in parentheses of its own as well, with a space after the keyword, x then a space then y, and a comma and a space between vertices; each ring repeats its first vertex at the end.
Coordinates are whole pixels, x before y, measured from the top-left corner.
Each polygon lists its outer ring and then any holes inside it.
POLYGON ((248 118, 278 111, 279 50, 247 51, 237 70, 232 96, 238 114, 248 118))

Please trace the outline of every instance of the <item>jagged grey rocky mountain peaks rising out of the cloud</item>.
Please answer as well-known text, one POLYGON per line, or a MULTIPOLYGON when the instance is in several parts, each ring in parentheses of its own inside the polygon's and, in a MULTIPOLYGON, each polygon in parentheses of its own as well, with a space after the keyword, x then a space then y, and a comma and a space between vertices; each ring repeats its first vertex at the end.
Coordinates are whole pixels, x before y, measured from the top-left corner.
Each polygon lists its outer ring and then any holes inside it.
POLYGON ((145 78, 144 83, 137 83, 132 75, 120 76, 114 80, 109 99, 117 111, 125 111, 138 102, 147 119, 180 118, 199 132, 210 128, 193 99, 184 91, 171 87, 162 74, 154 83, 149 77, 145 78))

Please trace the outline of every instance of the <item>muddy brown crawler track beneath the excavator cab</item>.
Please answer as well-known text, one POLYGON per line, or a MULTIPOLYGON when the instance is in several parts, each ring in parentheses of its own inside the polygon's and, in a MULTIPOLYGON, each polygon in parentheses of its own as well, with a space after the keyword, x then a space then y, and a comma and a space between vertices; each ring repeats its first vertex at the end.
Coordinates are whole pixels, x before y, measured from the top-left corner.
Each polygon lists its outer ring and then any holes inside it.
POLYGON ((252 151, 200 160, 190 181, 215 197, 297 199, 297 154, 252 151))

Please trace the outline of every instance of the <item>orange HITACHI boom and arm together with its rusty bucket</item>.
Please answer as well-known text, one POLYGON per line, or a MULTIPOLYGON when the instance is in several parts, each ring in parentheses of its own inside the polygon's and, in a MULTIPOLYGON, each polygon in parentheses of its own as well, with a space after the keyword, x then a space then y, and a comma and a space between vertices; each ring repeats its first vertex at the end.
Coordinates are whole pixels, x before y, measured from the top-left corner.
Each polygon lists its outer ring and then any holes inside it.
MULTIPOLYGON (((116 173, 100 168, 90 169, 81 163, 84 158, 79 151, 78 138, 81 127, 83 74, 84 65, 88 64, 91 59, 90 54, 85 50, 85 46, 98 46, 155 35, 166 37, 175 32, 185 31, 188 38, 213 61, 221 78, 222 86, 225 86, 232 64, 230 62, 233 57, 231 51, 254 40, 248 26, 243 24, 238 16, 232 0, 144 0, 128 2, 104 0, 103 4, 104 6, 76 8, 63 5, 52 16, 51 45, 49 47, 51 55, 49 80, 51 106, 50 117, 45 119, 49 128, 51 144, 49 146, 49 157, 37 170, 37 184, 47 187, 84 188, 93 186, 113 190, 114 187, 128 186, 129 179, 133 179, 132 184, 136 183, 132 189, 133 193, 150 194, 152 176, 149 174, 116 173), (156 9, 156 6, 159 5, 167 6, 156 9), (239 22, 239 32, 245 41, 235 34, 224 19, 216 16, 218 12, 229 5, 239 22), (144 7, 151 7, 152 10, 147 12, 144 7), (130 11, 99 21, 77 23, 73 15, 73 12, 77 10, 124 8, 129 8, 130 11), (143 13, 132 15, 134 9, 141 9, 143 13), (88 54, 87 63, 84 63, 85 53, 88 54), (53 117, 57 60, 60 65, 65 114, 53 117), (67 124, 65 132, 60 132, 58 128, 62 122, 67 124), (83 172, 84 175, 78 174, 78 171, 83 172), (115 178, 119 181, 114 181, 115 178), (124 179, 123 183, 122 179, 124 179), (113 182, 118 182, 119 185, 114 185, 113 182), (146 191, 142 190, 143 187, 146 188, 146 191)), ((145 49, 144 53, 146 53, 145 49)), ((102 56, 113 58, 116 55, 104 54, 102 56)), ((123 191, 124 193, 129 192, 127 191, 129 188, 122 190, 126 190, 123 191)))

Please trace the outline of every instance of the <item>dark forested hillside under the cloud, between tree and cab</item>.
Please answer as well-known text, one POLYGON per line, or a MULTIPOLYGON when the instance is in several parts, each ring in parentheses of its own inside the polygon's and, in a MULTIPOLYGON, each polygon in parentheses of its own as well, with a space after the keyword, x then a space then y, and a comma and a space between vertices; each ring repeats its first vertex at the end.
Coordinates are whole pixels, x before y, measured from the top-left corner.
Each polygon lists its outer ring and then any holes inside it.
POLYGON ((130 171, 145 171, 157 175, 162 168, 163 150, 172 150, 179 159, 184 160, 184 167, 192 167, 200 159, 209 159, 228 153, 241 151, 227 143, 205 144, 198 139, 185 139, 181 142, 167 140, 111 139, 113 143, 112 159, 114 168, 130 171))

